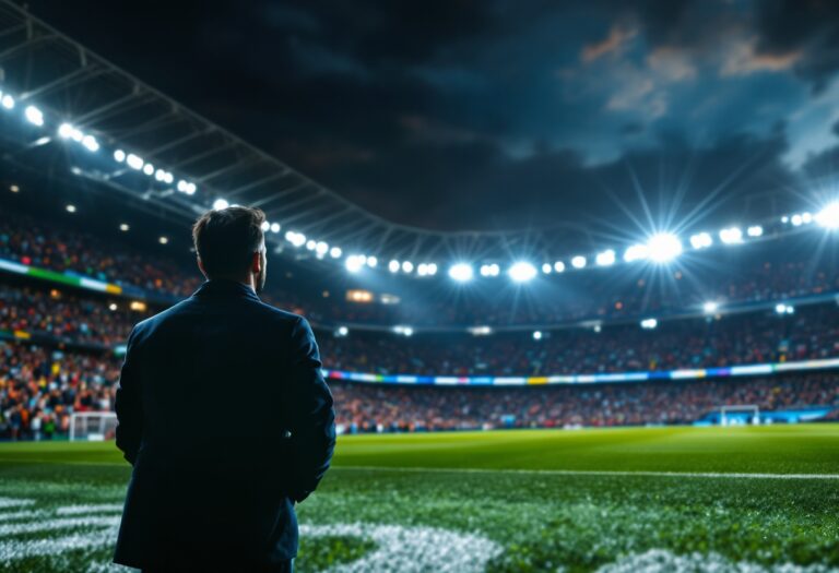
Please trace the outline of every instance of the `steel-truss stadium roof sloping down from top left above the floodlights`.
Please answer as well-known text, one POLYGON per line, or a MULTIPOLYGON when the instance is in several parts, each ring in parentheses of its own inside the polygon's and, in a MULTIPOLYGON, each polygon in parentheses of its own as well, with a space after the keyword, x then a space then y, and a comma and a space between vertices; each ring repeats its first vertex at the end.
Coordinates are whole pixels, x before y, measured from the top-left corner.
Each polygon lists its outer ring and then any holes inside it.
MULTIPOLYGON (((185 71, 186 73, 186 71, 185 71)), ((391 223, 347 201, 280 158, 255 147, 9 0, 0 0, 0 85, 38 109, 175 174, 172 184, 137 178, 119 164, 72 165, 73 172, 193 219, 220 199, 258 206, 269 220, 345 253, 389 258, 506 256, 527 249, 550 255, 557 234, 430 231, 391 223), (174 181, 197 187, 178 193, 174 181), (129 182, 130 181, 130 182, 129 182)), ((54 138, 55 140, 55 138, 54 138)), ((71 166, 68 166, 71 167, 71 166)), ((151 174, 150 174, 151 175, 151 174)), ((584 235, 582 227, 572 229, 584 235)), ((277 240, 277 249, 283 241, 277 240)))

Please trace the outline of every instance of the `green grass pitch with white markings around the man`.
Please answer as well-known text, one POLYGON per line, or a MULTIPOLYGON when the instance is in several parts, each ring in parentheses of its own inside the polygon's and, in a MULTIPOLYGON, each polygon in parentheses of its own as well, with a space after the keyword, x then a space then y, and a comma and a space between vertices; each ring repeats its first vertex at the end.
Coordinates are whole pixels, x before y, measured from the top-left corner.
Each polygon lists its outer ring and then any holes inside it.
MULTIPOLYGON (((108 564, 113 443, 0 444, 0 571, 108 564)), ((339 440, 299 571, 839 571, 839 425, 339 440)))

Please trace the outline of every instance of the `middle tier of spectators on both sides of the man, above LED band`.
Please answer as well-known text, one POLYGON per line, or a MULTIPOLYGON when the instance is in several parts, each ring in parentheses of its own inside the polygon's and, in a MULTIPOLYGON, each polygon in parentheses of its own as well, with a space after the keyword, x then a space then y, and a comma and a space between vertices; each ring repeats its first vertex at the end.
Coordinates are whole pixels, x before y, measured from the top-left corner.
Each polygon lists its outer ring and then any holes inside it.
MULTIPOLYGON (((56 288, 0 284, 0 331, 48 335, 72 345, 125 344, 132 325, 153 311, 128 310, 125 300, 56 288)), ((718 318, 472 336, 389 331, 318 331, 326 368, 380 374, 551 375, 784 362, 839 356, 836 303, 718 318)))

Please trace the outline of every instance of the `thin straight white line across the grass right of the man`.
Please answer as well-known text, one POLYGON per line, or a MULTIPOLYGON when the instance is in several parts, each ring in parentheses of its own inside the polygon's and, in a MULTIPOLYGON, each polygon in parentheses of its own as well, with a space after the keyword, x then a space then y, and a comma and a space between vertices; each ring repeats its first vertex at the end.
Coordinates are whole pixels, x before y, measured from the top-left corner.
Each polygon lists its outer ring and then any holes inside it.
POLYGON ((593 477, 675 477, 705 479, 839 479, 839 474, 743 474, 714 471, 630 471, 599 469, 489 469, 478 467, 388 467, 388 466, 334 466, 334 469, 436 473, 436 474, 527 474, 546 476, 593 476, 593 477))

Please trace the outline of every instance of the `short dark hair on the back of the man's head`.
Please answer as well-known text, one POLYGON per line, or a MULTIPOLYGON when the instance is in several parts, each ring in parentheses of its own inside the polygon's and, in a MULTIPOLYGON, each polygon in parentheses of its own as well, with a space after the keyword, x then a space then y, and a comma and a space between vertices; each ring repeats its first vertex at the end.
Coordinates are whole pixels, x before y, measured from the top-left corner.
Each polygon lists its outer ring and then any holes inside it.
POLYGON ((247 272, 264 240, 264 223, 265 214, 250 207, 220 208, 201 215, 192 226, 192 240, 206 276, 247 272))

